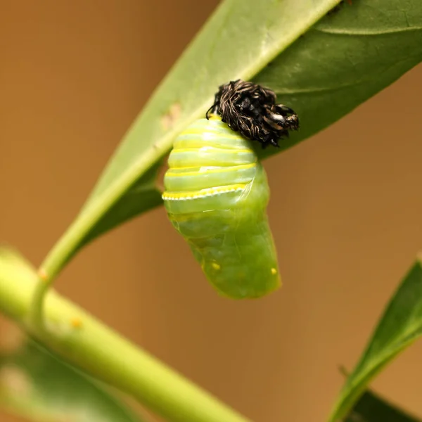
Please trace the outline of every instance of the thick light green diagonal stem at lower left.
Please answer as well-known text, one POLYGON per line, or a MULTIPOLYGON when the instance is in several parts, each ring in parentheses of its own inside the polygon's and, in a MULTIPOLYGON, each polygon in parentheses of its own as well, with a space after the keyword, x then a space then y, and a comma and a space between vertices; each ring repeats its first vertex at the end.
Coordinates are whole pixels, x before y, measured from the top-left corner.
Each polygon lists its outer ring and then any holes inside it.
POLYGON ((132 395, 169 421, 248 421, 54 290, 46 295, 44 305, 48 331, 34 326, 27 315, 37 281, 26 262, 0 250, 0 311, 61 357, 132 395))

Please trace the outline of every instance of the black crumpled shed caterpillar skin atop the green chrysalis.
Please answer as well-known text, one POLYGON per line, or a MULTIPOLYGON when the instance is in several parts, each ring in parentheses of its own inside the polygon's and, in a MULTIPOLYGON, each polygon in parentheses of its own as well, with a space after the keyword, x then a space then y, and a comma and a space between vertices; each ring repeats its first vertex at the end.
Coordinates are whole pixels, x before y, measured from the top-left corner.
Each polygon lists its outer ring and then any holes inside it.
POLYGON ((262 148, 278 147, 279 139, 299 128, 298 115, 291 108, 276 104, 274 91, 241 79, 219 87, 207 118, 210 113, 219 114, 230 129, 259 141, 262 148))

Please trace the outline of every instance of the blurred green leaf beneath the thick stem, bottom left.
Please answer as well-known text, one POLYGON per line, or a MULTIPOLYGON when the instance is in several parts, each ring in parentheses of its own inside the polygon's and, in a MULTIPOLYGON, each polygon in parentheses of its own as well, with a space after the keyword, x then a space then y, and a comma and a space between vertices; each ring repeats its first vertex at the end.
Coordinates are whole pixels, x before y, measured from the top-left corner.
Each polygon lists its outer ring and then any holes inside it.
POLYGON ((140 422, 99 384, 33 340, 0 355, 0 405, 34 422, 140 422))

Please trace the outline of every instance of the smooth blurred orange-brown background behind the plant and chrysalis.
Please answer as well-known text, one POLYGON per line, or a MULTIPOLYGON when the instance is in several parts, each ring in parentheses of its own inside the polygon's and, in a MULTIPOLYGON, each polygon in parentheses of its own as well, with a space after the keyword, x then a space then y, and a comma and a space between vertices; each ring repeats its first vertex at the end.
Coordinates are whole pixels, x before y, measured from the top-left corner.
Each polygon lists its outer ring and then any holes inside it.
MULTIPOLYGON (((1 241, 41 262, 216 5, 0 0, 1 241)), ((219 298, 162 207, 90 245, 58 290, 253 421, 323 422, 422 246, 421 91, 419 67, 265 162, 279 293, 219 298)), ((422 416, 421 378, 418 343, 373 386, 422 416)))

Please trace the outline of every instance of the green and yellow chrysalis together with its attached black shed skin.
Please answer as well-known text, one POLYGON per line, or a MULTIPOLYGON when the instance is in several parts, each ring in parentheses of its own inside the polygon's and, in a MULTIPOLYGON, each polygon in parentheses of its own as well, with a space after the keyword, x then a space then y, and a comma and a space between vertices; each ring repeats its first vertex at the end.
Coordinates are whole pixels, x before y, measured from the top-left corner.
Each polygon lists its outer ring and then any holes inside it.
POLYGON ((229 298, 259 298, 281 286, 267 176, 246 139, 278 145, 298 128, 298 116, 275 99, 251 82, 222 85, 212 115, 177 136, 168 160, 162 198, 170 221, 229 298))

